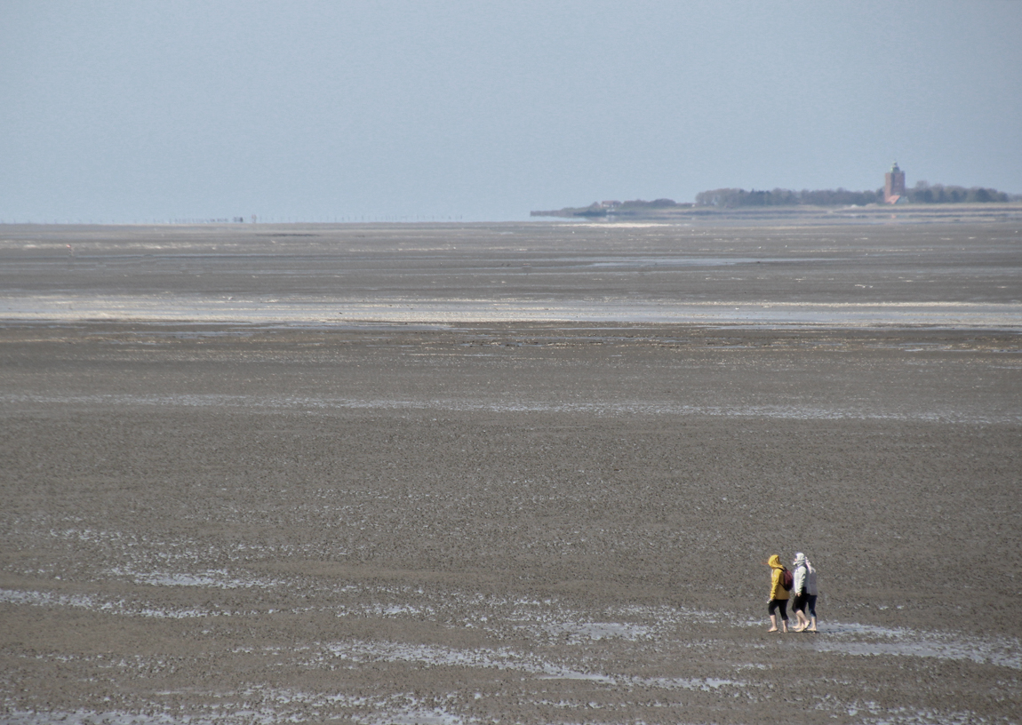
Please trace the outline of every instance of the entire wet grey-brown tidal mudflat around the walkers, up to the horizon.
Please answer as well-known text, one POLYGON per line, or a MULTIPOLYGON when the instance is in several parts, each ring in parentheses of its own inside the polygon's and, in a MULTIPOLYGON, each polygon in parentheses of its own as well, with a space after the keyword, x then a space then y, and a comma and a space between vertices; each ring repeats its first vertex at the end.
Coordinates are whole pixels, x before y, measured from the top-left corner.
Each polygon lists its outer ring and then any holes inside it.
POLYGON ((1020 722, 1016 226, 0 228, 0 721, 1020 722))

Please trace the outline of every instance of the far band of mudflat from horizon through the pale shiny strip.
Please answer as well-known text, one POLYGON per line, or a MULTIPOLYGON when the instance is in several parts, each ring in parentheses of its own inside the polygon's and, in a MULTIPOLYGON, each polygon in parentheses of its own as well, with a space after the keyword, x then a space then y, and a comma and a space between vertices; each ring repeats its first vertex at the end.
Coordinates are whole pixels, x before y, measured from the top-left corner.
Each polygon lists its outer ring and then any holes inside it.
POLYGON ((1022 220, 0 228, 0 320, 1017 328, 1022 220))

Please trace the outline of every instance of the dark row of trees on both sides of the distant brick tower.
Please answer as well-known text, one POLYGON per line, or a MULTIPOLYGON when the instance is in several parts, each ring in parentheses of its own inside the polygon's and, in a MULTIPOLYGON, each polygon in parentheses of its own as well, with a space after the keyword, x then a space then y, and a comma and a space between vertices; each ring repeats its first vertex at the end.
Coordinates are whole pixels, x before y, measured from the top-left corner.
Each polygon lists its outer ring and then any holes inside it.
MULTIPOLYGON (((1017 201, 1017 194, 1006 194, 996 189, 962 186, 944 186, 919 182, 915 188, 905 191, 904 196, 910 202, 918 204, 955 204, 984 203, 988 201, 1017 201)), ((700 206, 723 206, 735 208, 738 206, 797 206, 807 204, 812 206, 865 206, 877 204, 884 200, 884 190, 848 191, 847 189, 820 189, 809 191, 792 191, 791 189, 774 189, 773 191, 745 191, 745 189, 712 189, 696 194, 696 204, 700 206)))

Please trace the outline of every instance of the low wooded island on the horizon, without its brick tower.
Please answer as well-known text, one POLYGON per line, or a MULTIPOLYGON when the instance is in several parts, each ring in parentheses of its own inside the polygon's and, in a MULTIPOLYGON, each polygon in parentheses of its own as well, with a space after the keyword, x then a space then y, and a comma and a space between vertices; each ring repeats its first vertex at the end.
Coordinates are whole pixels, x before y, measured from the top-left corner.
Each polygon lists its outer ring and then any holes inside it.
MULTIPOLYGON (((897 197, 896 197, 897 198, 897 197)), ((996 189, 983 187, 930 185, 919 182, 905 190, 897 199, 899 204, 977 204, 991 202, 1022 201, 1022 194, 1007 194, 996 189)), ((876 191, 848 191, 846 189, 822 189, 794 191, 773 189, 771 191, 746 191, 745 189, 711 189, 696 194, 696 200, 677 202, 673 199, 643 201, 594 201, 589 206, 566 206, 562 209, 530 211, 531 216, 590 216, 590 218, 633 218, 669 215, 684 210, 698 211, 700 208, 737 209, 743 207, 766 206, 869 206, 884 204, 884 189, 876 191)))

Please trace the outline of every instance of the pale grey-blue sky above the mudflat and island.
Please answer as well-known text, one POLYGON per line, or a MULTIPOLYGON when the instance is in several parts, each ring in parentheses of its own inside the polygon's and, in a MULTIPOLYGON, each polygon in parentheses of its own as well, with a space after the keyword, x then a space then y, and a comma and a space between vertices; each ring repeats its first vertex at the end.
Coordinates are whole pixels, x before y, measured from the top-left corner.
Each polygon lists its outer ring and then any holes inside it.
POLYGON ((1022 2, 0 0, 0 220, 1022 193, 1022 2))

